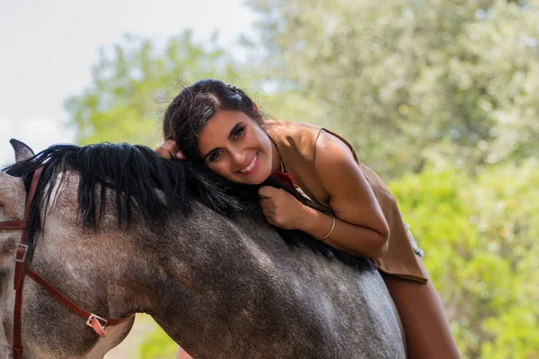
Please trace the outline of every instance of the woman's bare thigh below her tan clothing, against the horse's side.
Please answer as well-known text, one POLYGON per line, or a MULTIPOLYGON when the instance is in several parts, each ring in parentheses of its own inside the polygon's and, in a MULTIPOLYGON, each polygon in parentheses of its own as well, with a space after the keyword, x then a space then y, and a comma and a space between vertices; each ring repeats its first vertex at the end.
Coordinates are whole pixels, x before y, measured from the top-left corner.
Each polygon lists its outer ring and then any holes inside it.
MULTIPOLYGON (((429 278, 422 263, 420 266, 429 278)), ((382 276, 401 315, 408 359, 460 358, 442 302, 430 278, 427 285, 421 285, 384 273, 382 276)))

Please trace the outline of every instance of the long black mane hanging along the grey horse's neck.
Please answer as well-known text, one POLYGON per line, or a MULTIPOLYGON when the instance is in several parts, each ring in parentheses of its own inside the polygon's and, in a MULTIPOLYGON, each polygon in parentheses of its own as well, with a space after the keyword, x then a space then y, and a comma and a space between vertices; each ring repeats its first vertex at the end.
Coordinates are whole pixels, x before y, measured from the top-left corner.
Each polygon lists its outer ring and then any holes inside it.
MULTIPOLYGON (((60 181, 64 180, 67 169, 79 172, 78 209, 84 225, 90 228, 98 227, 104 215, 107 188, 115 189, 119 226, 131 223, 134 210, 149 223, 163 221, 176 211, 189 215, 194 202, 201 202, 221 215, 233 216, 243 211, 245 205, 258 201, 261 186, 290 191, 273 177, 260 186, 239 185, 216 175, 206 166, 166 160, 146 146, 131 144, 55 144, 4 171, 21 177, 28 191, 33 173, 40 167, 43 170, 31 204, 27 229, 29 255, 33 253, 34 235, 41 224, 40 210, 49 206, 58 171, 62 173, 60 181)), ((340 259, 360 269, 374 268, 367 258, 331 249, 305 232, 277 230, 289 245, 303 242, 326 257, 340 259)))

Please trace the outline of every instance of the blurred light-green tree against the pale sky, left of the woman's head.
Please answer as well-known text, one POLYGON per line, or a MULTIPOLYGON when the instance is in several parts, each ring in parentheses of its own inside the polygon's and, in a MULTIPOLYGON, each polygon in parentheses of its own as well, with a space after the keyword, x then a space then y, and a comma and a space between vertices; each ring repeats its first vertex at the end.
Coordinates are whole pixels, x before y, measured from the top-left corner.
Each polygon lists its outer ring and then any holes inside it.
POLYGON ((161 138, 163 109, 181 85, 209 77, 248 83, 247 66, 220 48, 217 36, 202 45, 192 35, 184 31, 163 48, 134 36, 126 36, 123 44, 111 49, 103 48, 93 66, 93 83, 65 103, 77 129, 77 142, 155 145, 161 138))

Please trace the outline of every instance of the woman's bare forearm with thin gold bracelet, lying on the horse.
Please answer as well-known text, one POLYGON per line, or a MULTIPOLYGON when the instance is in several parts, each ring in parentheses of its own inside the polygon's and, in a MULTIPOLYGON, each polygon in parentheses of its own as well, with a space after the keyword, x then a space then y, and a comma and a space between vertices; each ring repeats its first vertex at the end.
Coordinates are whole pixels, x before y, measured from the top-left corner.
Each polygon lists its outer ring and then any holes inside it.
MULTIPOLYGON (((331 230, 331 215, 314 208, 304 206, 301 218, 296 229, 311 234, 317 240, 322 239, 331 230)), ((335 217, 335 227, 323 242, 355 256, 379 258, 387 250, 388 238, 389 233, 378 233, 335 217)))

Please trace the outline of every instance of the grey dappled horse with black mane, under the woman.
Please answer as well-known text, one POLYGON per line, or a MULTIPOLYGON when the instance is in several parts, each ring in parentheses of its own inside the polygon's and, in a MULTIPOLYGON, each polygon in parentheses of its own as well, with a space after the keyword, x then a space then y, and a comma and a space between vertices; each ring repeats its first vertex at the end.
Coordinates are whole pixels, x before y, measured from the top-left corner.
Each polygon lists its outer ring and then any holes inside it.
MULTIPOLYGON (((13 144, 17 163, 0 172, 0 221, 22 219, 31 175, 43 167, 30 267, 88 311, 146 312, 197 359, 405 357, 398 314, 370 262, 276 231, 256 188, 141 146, 55 145, 32 156, 13 144)), ((0 232, 0 359, 11 355, 20 236, 0 232)), ((102 358, 133 323, 99 337, 33 281, 24 290, 27 358, 102 358)))

